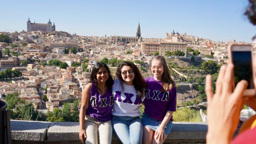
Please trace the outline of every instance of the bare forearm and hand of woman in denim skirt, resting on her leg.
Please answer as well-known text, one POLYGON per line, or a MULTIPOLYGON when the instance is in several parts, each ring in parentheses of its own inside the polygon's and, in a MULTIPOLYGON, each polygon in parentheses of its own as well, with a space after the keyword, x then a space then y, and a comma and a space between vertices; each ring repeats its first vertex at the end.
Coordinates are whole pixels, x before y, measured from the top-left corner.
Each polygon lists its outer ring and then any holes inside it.
POLYGON ((165 129, 166 124, 170 121, 172 114, 173 114, 172 111, 167 111, 164 119, 162 120, 162 123, 160 124, 158 129, 156 129, 156 131, 155 131, 156 139, 159 139, 159 141, 164 140, 164 135, 165 135, 164 129, 165 129))

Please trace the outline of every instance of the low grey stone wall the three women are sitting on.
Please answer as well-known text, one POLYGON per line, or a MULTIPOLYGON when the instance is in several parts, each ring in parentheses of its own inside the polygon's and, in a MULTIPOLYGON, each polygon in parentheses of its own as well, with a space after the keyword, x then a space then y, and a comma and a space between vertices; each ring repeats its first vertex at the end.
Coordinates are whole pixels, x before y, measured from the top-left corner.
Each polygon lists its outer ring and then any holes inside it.
MULTIPOLYGON (((206 143, 207 123, 174 122, 166 144, 206 143)), ((81 144, 79 122, 11 120, 12 144, 81 144)), ((112 144, 121 144, 112 137, 112 144)))

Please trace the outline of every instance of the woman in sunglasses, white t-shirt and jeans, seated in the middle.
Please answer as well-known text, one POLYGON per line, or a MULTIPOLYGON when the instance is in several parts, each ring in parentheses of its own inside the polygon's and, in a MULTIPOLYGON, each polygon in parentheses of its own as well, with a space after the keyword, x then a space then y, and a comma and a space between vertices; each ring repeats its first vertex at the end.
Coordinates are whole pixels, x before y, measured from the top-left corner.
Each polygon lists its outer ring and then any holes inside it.
POLYGON ((144 99, 145 88, 146 82, 136 65, 131 62, 118 65, 112 89, 112 127, 116 137, 124 144, 142 143, 139 105, 144 99))

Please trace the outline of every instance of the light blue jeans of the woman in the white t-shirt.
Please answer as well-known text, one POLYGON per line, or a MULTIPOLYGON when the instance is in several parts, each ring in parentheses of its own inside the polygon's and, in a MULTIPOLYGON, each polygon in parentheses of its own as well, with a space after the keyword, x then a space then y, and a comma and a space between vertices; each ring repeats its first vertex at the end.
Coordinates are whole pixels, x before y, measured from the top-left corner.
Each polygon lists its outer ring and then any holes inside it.
POLYGON ((143 128, 140 117, 112 116, 113 133, 123 144, 141 144, 143 128))

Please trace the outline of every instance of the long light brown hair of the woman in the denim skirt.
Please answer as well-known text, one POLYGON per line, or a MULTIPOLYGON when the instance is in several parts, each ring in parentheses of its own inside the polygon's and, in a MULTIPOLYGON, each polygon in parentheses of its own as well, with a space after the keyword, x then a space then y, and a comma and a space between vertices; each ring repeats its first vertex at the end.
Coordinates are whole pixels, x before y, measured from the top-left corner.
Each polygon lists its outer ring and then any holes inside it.
POLYGON ((166 62, 165 58, 163 56, 160 56, 160 55, 156 56, 156 57, 153 57, 150 64, 149 64, 150 69, 151 69, 151 64, 152 64, 153 60, 159 60, 164 66, 164 73, 162 74, 162 90, 161 90, 161 92, 172 89, 172 87, 175 86, 175 82, 171 78, 170 70, 169 70, 169 67, 167 65, 167 62, 166 62))

